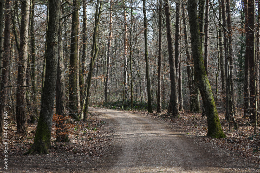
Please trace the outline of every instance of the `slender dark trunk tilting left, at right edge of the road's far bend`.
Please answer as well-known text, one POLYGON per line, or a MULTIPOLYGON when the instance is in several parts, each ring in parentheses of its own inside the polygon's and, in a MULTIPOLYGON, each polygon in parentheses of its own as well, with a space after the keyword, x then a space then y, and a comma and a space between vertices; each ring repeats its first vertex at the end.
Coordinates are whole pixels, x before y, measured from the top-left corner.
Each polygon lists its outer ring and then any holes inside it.
POLYGON ((149 59, 148 59, 148 41, 147 41, 147 22, 146 22, 146 7, 145 0, 143 0, 143 12, 144 12, 144 34, 145 34, 145 69, 146 69, 146 82, 147 82, 147 97, 148 97, 148 112, 153 113, 152 98, 151 98, 151 85, 149 77, 149 59))

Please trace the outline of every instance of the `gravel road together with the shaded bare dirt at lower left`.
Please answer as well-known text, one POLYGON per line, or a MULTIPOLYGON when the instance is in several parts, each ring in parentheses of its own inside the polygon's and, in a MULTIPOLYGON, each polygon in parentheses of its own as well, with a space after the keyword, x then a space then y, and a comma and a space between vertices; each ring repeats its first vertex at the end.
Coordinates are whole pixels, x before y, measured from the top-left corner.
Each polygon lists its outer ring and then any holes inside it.
MULTIPOLYGON (((109 109, 90 110, 106 122, 102 123, 102 137, 95 139, 103 141, 103 147, 101 143, 93 146, 99 155, 79 154, 60 145, 40 155, 23 155, 21 150, 14 154, 14 150, 8 156, 8 170, 0 167, 0 172, 260 172, 259 165, 162 119, 109 109)), ((75 143, 75 139, 70 143, 80 144, 81 140, 75 143)))

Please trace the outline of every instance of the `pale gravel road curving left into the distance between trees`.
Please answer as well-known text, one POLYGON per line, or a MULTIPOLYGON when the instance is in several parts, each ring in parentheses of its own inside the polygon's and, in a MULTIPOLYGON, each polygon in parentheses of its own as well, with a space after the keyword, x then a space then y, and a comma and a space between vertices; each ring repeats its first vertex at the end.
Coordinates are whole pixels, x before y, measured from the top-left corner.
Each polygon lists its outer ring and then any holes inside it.
POLYGON ((91 110, 113 130, 110 153, 98 160, 95 172, 250 171, 248 163, 228 151, 205 146, 161 120, 116 110, 91 110))

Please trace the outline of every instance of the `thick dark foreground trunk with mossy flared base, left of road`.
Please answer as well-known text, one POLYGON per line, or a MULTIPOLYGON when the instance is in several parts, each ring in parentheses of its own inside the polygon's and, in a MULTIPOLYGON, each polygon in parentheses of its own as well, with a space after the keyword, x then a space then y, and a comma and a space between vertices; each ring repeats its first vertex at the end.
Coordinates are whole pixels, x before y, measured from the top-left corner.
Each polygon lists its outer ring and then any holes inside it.
POLYGON ((46 77, 42 91, 41 112, 36 128, 34 144, 25 153, 35 152, 47 153, 50 147, 51 124, 55 99, 55 86, 57 81, 58 68, 58 35, 61 17, 61 1, 50 0, 50 18, 48 27, 48 46, 46 56, 46 77))

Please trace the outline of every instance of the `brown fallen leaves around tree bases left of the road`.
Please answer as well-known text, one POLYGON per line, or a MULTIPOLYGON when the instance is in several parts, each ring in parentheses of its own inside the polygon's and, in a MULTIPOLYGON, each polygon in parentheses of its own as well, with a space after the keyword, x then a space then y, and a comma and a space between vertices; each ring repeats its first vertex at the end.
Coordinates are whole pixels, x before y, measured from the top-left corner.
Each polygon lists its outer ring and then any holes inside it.
MULTIPOLYGON (((11 117, 9 117, 11 119, 11 117)), ((53 122, 51 132, 51 147, 50 154, 56 152, 71 153, 77 155, 92 155, 99 157, 103 155, 103 147, 106 142, 107 130, 105 130, 106 122, 97 118, 97 116, 88 115, 86 122, 75 122, 70 120, 68 124, 69 142, 57 142, 56 126, 53 122)), ((28 124, 28 134, 16 134, 15 124, 8 124, 8 154, 21 155, 25 153, 33 145, 34 133, 36 131, 37 123, 28 124)), ((0 141, 1 143, 3 140, 0 141)), ((0 150, 3 151, 4 145, 0 145, 0 150)))

